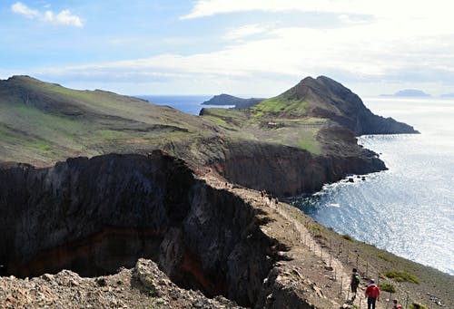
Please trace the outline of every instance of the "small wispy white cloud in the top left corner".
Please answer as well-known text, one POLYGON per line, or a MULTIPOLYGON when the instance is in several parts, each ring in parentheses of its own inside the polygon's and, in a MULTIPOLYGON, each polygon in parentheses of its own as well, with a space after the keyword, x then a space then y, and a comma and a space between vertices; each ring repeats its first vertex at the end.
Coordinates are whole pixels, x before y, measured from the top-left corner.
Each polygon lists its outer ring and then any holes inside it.
POLYGON ((17 2, 15 5, 12 5, 11 10, 15 14, 23 14, 28 18, 37 18, 47 23, 66 24, 73 25, 75 27, 84 26, 82 19, 77 15, 71 14, 69 10, 63 10, 57 14, 54 14, 54 12, 49 10, 42 13, 29 8, 21 2, 17 2))

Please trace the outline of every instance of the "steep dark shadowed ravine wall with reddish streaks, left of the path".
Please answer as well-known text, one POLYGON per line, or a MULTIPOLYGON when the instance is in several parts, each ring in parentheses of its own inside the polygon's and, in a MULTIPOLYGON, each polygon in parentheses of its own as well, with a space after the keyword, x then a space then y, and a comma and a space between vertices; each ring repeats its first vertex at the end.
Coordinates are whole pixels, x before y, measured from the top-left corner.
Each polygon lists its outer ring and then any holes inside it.
POLYGON ((106 275, 147 257, 179 285, 250 306, 278 259, 257 209, 160 152, 4 167, 0 211, 5 275, 106 275))

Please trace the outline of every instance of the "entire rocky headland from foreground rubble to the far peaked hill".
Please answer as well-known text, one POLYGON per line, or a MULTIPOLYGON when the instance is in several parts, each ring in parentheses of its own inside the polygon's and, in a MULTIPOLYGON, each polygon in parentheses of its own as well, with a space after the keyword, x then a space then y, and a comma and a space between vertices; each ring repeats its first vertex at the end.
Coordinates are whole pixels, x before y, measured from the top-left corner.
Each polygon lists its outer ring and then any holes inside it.
POLYGON ((410 301, 451 305, 449 275, 275 198, 386 169, 355 135, 417 132, 327 77, 198 117, 17 76, 0 82, 0 111, 5 308, 359 307, 346 301, 353 252, 376 275, 418 276, 392 282, 410 301))

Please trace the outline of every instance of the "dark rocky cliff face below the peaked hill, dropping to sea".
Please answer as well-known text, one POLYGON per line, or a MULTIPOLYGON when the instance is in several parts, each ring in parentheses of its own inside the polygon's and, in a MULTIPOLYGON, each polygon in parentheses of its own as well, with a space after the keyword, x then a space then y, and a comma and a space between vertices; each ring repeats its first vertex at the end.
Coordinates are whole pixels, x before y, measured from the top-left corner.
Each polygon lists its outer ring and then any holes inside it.
POLYGON ((368 150, 346 155, 316 156, 309 151, 273 144, 233 143, 226 158, 212 164, 233 183, 278 197, 320 190, 326 183, 348 174, 367 174, 386 169, 383 161, 368 150))

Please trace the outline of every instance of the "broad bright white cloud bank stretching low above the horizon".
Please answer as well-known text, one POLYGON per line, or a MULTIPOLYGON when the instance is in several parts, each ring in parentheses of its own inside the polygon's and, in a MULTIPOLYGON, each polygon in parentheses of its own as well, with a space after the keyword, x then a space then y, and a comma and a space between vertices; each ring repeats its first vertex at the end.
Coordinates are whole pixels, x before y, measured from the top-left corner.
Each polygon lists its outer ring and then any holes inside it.
MULTIPOLYGON (((356 86, 371 81, 393 85, 412 81, 414 87, 418 83, 442 81, 446 87, 454 86, 452 27, 432 34, 424 29, 424 24, 419 28, 417 24, 380 20, 335 29, 281 27, 266 30, 268 35, 253 37, 253 40, 233 41, 228 47, 212 53, 162 54, 123 62, 44 70, 41 74, 73 76, 75 80, 130 81, 132 84, 148 81, 159 83, 160 87, 166 87, 167 82, 183 85, 198 81, 193 84, 194 92, 213 92, 196 90, 203 86, 224 92, 263 95, 277 94, 285 90, 285 84, 288 88, 307 75, 320 74, 340 78, 340 82, 355 82, 356 86)), ((259 24, 247 24, 228 34, 231 39, 244 38, 262 33, 262 29, 259 24)), ((386 91, 377 89, 377 92, 386 91)))

